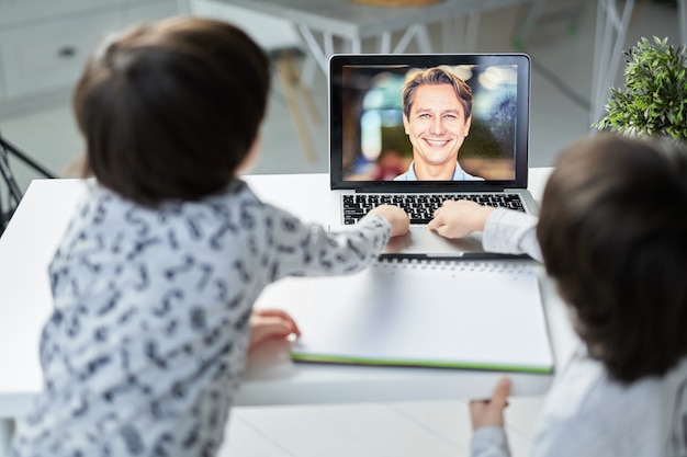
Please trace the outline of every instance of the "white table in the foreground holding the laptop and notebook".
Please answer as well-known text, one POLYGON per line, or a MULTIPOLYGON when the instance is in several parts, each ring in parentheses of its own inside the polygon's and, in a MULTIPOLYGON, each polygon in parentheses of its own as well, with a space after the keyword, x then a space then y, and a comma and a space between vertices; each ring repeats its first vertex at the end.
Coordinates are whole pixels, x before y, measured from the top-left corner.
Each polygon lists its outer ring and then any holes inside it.
MULTIPOLYGON (((530 171, 534 198, 540 197, 550 170, 530 171)), ((252 175, 246 180, 262 199, 306 220, 324 220, 327 174, 252 175)), ((52 309, 46 269, 85 192, 79 180, 33 181, 0 238, 0 456, 7 448, 12 418, 26 413, 43 387, 38 336, 52 309)), ((303 301, 304 281, 285 279, 270 286, 257 306, 297 306, 303 301)), ((560 366, 576 340, 565 308, 545 278, 542 292, 560 366)), ((288 344, 274 342, 249 357, 236 404, 469 399, 485 395, 499 376, 474 370, 299 364, 290 359, 288 344)), ((541 395, 551 382, 547 375, 509 376, 515 395, 541 395)))

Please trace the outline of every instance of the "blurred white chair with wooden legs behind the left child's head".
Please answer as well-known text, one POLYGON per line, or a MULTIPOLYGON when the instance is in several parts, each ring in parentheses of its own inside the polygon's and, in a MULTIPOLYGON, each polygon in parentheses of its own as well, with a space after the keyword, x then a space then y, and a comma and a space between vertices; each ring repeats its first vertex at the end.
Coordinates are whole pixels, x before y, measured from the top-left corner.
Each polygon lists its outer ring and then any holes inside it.
POLYGON ((313 123, 318 124, 320 117, 309 91, 302 82, 299 59, 304 56, 303 42, 293 24, 216 0, 180 0, 179 9, 182 13, 236 24, 270 55, 305 157, 314 162, 317 156, 301 105, 305 106, 313 123))

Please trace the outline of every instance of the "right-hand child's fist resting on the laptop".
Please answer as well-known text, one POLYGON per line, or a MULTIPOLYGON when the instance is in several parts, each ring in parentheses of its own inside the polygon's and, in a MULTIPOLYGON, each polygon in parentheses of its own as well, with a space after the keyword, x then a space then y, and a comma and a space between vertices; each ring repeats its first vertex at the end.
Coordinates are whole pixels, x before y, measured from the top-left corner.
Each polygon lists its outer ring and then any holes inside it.
POLYGON ((435 212, 427 228, 446 238, 462 238, 473 231, 484 230, 487 217, 494 210, 470 201, 446 201, 435 212))

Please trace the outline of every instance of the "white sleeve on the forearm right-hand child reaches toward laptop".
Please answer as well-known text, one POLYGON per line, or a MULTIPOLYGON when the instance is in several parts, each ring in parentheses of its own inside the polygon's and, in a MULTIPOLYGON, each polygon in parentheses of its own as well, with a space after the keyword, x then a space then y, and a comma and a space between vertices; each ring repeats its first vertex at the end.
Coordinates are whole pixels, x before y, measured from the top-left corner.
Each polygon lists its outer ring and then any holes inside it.
POLYGON ((482 243, 489 252, 526 253, 541 262, 537 241, 538 218, 513 209, 497 208, 486 219, 482 243))

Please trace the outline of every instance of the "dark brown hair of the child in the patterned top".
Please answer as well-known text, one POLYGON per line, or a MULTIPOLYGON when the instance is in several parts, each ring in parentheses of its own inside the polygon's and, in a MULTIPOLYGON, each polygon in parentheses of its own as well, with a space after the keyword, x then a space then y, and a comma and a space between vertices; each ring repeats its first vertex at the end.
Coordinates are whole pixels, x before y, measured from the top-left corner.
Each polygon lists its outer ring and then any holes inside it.
POLYGON ((85 174, 147 206, 218 193, 257 137, 269 82, 263 50, 228 23, 133 26, 101 44, 75 90, 85 174))

